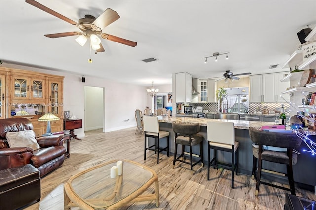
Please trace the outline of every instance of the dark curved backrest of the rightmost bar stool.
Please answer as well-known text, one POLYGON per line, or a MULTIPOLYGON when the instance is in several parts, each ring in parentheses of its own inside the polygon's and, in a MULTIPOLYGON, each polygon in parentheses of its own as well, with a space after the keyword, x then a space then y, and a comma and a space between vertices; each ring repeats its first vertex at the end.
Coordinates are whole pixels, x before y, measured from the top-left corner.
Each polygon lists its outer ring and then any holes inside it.
POLYGON ((249 135, 254 143, 288 149, 298 148, 302 140, 295 133, 279 133, 249 128, 249 135))

